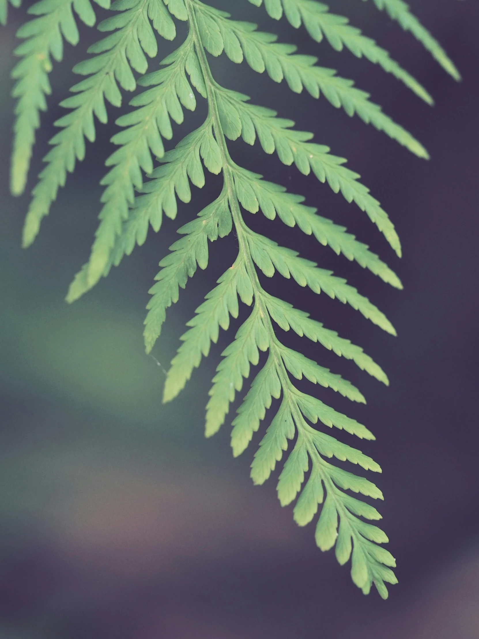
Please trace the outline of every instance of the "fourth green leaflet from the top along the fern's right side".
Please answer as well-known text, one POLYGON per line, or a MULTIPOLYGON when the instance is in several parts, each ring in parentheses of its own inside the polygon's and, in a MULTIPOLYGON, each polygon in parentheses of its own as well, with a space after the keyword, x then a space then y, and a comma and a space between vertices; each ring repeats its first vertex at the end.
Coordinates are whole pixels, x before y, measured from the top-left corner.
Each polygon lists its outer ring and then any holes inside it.
MULTIPOLYGON (((227 95, 224 102, 231 107, 231 119, 238 115, 241 137, 245 142, 254 144, 257 135, 265 153, 271 154, 276 151, 278 158, 286 166, 291 166, 294 162, 303 175, 313 171, 319 181, 328 181, 335 193, 341 192, 347 202, 354 201, 361 211, 367 213, 400 257, 399 237, 388 214, 381 208, 377 199, 370 195, 369 189, 358 181, 360 175, 342 166, 346 162, 344 158, 331 155, 328 146, 309 142, 313 137, 312 133, 291 129, 294 122, 277 118, 276 111, 247 104, 247 96, 232 91, 224 93, 227 95)), ((242 206, 247 211, 255 213, 257 201, 254 192, 251 193, 251 198, 245 197, 246 194, 240 191, 237 195, 242 206)))

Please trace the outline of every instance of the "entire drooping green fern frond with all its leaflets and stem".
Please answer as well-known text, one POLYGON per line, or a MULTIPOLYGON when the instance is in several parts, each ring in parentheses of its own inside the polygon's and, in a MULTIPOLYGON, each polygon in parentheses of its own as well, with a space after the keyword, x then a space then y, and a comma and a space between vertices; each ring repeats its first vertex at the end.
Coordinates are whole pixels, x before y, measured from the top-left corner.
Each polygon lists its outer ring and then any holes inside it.
MULTIPOLYGON (((262 0, 249 1, 256 6, 262 4, 262 0)), ((0 0, 2 22, 6 21, 6 2, 0 0)), ((38 116, 45 109, 45 95, 50 91, 51 61, 62 58, 63 38, 72 44, 78 40, 73 11, 86 24, 95 21, 90 2, 40 0, 30 10, 37 17, 19 31, 25 42, 16 50, 24 59, 13 72, 18 80, 14 93, 19 98, 13 192, 19 193, 24 188, 38 116)), ((106 7, 108 0, 96 2, 106 7)), ((19 0, 10 3, 17 6, 19 0)), ((459 78, 443 49, 402 0, 374 0, 374 3, 411 31, 453 77, 459 78)), ((379 65, 425 102, 432 103, 429 93, 385 49, 351 26, 345 17, 330 13, 326 5, 316 0, 264 0, 264 7, 274 19, 284 15, 293 27, 305 26, 316 42, 324 38, 336 50, 349 49, 358 58, 379 65)), ((285 346, 279 334, 293 330, 338 357, 351 360, 386 385, 388 378, 360 346, 324 327, 288 301, 268 293, 259 276, 263 273, 273 277, 278 272, 314 293, 325 293, 350 305, 389 334, 395 335, 395 329, 383 312, 346 279, 324 270, 316 261, 301 258, 296 250, 255 233, 243 215, 261 211, 270 220, 278 216, 288 227, 298 226, 306 235, 314 235, 321 245, 358 263, 382 281, 397 289, 402 284, 365 243, 347 233, 345 227, 318 215, 303 196, 291 194, 247 167, 238 166, 229 153, 228 140, 241 137, 253 145, 258 139, 262 150, 277 153, 286 166, 294 164, 300 173, 313 173, 317 180, 327 182, 335 193, 341 192, 347 202, 354 201, 367 213, 398 256, 399 237, 387 213, 359 181, 360 176, 344 166, 344 158, 313 142, 311 133, 293 128, 291 119, 280 118, 276 111, 250 104, 247 96, 220 86, 213 77, 207 52, 212 56, 225 52, 234 63, 244 60, 252 70, 266 72, 275 82, 285 80, 295 93, 306 89, 304 93, 313 98, 323 94, 334 107, 349 116, 359 116, 417 157, 427 158, 427 151, 413 135, 384 114, 368 93, 354 87, 352 81, 319 66, 317 58, 299 54, 296 46, 278 43, 277 36, 257 31, 255 24, 235 21, 229 13, 200 0, 116 0, 112 9, 118 13, 98 26, 100 31, 112 33, 90 47, 93 57, 74 68, 86 78, 75 84, 74 95, 61 103, 70 111, 56 122, 60 131, 51 140, 52 149, 45 157, 47 166, 33 191, 24 245, 33 242, 57 190, 65 184, 66 174, 72 173, 77 160, 84 158, 85 138, 94 141, 94 116, 102 123, 107 121, 105 100, 118 107, 121 89, 133 91, 137 85, 144 87, 131 100, 130 111, 116 121, 120 130, 111 140, 116 149, 106 161, 109 169, 101 181, 105 190, 100 224, 89 261, 75 276, 67 300, 79 298, 136 245, 144 243, 150 227, 158 232, 163 213, 174 220, 178 199, 189 203, 192 185, 199 189, 205 186, 204 169, 222 174, 219 194, 212 195, 210 203, 195 219, 179 228, 181 237, 161 259, 160 272, 149 290, 151 298, 144 328, 147 353, 162 332, 167 309, 178 302, 179 289, 186 287, 198 267, 207 268, 209 242, 234 231, 237 253, 235 249, 232 265, 188 321, 188 329, 167 373, 163 401, 178 396, 202 358, 209 355, 211 344, 217 343, 220 328, 227 331, 231 318, 239 317, 242 302, 247 307, 247 318, 224 349, 213 377, 206 406, 206 436, 214 435, 224 425, 232 403, 252 377, 232 420, 234 456, 247 450, 263 420, 268 419, 269 426, 252 460, 254 483, 262 484, 277 464, 284 461, 277 485, 280 504, 285 506, 296 500, 293 517, 298 525, 307 525, 317 517, 317 546, 323 551, 335 547, 340 564, 351 559, 354 583, 365 594, 374 583, 381 597, 386 598, 386 583, 397 580, 391 570, 395 560, 381 546, 388 538, 370 523, 381 515, 348 491, 373 499, 383 499, 383 495, 366 477, 338 468, 335 460, 351 463, 365 472, 381 472, 381 468, 361 450, 324 432, 329 428, 331 433, 343 431, 344 438, 374 440, 374 435, 360 421, 327 403, 332 392, 359 404, 365 403, 365 397, 342 375, 321 364, 324 353, 321 348, 309 348, 306 357, 285 346), (188 23, 185 40, 166 58, 158 57, 158 70, 144 75, 148 67, 146 56, 158 54, 155 31, 172 40, 176 35, 174 19, 188 23), (135 77, 135 73, 141 77, 135 77), (165 141, 174 137, 173 123, 183 125, 185 109, 194 111, 198 96, 208 104, 206 118, 165 152, 165 141), (159 166, 155 167, 156 161, 159 166), (317 358, 313 355, 316 351, 317 358), (300 390, 294 380, 307 380, 316 389, 305 382, 300 390), (317 386, 326 389, 321 391, 324 398, 315 396, 317 386), (308 388, 311 390, 306 392, 308 388), (305 473, 309 473, 306 481, 305 473)), ((363 321, 360 314, 356 314, 357 321, 363 321)), ((356 408, 361 410, 360 406, 356 408)))

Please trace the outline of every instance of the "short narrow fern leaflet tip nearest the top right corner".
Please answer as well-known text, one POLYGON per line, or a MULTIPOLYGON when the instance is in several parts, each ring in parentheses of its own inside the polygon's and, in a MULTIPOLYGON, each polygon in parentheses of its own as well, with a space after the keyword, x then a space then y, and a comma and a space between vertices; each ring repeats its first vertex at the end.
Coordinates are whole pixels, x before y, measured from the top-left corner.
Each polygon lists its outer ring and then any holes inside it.
MULTIPOLYGON (((365 0, 363 0, 365 1, 365 0)), ((380 11, 385 11, 392 20, 399 22, 404 31, 409 31, 432 57, 449 73, 455 80, 460 80, 460 73, 453 61, 446 54, 445 50, 436 38, 430 35, 429 31, 422 26, 416 16, 410 12, 409 5, 403 0, 374 0, 380 11)))

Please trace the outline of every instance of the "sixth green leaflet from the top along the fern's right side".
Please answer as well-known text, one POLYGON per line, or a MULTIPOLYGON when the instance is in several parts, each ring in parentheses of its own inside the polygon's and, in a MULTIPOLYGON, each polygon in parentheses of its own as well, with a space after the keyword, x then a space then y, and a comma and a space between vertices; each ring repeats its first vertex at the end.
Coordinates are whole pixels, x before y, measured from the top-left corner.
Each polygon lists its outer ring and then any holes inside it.
POLYGON ((308 286, 314 293, 324 291, 332 299, 337 298, 343 304, 349 304, 356 311, 360 311, 365 318, 383 328, 391 335, 396 331, 386 316, 374 304, 358 293, 353 286, 346 284, 346 280, 336 277, 331 271, 318 268, 316 263, 300 258, 298 253, 248 229, 245 232, 251 258, 262 270, 266 277, 272 277, 278 271, 289 279, 293 276, 300 286, 308 286))

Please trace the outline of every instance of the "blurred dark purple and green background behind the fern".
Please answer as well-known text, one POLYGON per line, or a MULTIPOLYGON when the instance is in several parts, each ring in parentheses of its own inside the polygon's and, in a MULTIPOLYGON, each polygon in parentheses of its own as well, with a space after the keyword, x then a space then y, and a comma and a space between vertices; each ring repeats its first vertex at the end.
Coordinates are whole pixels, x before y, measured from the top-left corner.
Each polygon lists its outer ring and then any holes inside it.
MULTIPOLYGON (((276 31, 282 41, 316 54, 321 65, 353 77, 425 144, 429 162, 324 98, 294 95, 225 56, 212 61, 225 86, 277 108, 348 158, 402 238, 399 260, 360 210, 315 178, 265 157, 257 144, 231 144, 239 163, 307 196, 321 215, 367 242, 404 282, 402 292, 389 288, 297 229, 246 214, 255 229, 347 277, 397 328, 392 338, 323 295, 276 277, 265 283, 363 346, 390 377, 386 389, 321 346, 285 336, 367 397, 367 406, 348 406, 317 390, 377 437, 362 449, 383 467, 370 479, 383 490, 381 524, 398 562, 399 585, 390 588, 386 602, 376 591, 364 597, 351 583, 349 567, 316 548, 314 525, 294 524, 292 508, 282 509, 275 495, 278 472, 264 486, 253 486, 249 465, 259 434, 238 459, 229 449, 231 419, 204 440, 204 405, 227 344, 224 333, 183 394, 161 403, 164 374, 142 346, 148 289, 158 261, 178 237, 176 228, 211 201, 217 179, 209 176, 205 189, 194 189, 192 204, 180 206, 178 220, 166 220, 160 234, 152 233, 107 280, 69 306, 63 299, 89 255, 100 210, 98 182, 115 131, 113 124, 100 125, 95 149, 87 145, 87 160, 69 176, 33 247, 20 249, 28 192, 52 122, 63 112, 56 105, 77 81, 72 65, 98 32, 82 28, 80 45, 67 45, 66 61, 55 65, 27 194, 13 199, 9 74, 14 34, 25 14, 10 11, 0 33, 1 638, 479 637, 479 6, 473 0, 412 4, 459 67, 459 84, 372 2, 335 0, 331 10, 387 47, 429 89, 433 108, 369 62, 316 45, 302 29, 268 19, 246 0, 218 0, 215 6, 276 31)), ((184 35, 180 25, 178 38, 184 35)), ((163 57, 172 43, 160 47, 163 57)), ((123 111, 110 108, 110 120, 123 111)), ((204 113, 199 102, 197 112, 186 114, 183 133, 204 113)), ((176 126, 175 134, 171 144, 179 140, 176 126)), ((234 235, 211 245, 208 272, 197 273, 169 310, 153 351, 163 367, 235 251, 234 235)), ((233 322, 230 337, 237 326, 233 322)))

